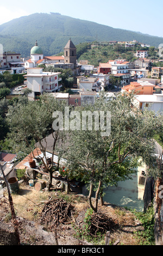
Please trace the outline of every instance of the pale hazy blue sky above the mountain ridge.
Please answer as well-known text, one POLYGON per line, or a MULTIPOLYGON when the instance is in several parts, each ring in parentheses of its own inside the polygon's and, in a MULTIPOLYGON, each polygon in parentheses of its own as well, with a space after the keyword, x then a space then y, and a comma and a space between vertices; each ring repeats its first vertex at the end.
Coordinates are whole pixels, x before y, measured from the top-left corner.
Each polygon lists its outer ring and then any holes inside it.
POLYGON ((21 16, 52 12, 163 37, 163 0, 3 0, 0 10, 0 25, 21 16))

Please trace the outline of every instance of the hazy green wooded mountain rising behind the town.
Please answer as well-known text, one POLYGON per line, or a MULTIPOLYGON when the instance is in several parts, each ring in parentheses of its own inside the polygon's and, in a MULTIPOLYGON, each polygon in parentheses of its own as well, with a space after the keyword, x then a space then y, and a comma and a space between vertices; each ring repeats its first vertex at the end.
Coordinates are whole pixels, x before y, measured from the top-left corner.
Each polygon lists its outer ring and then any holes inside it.
POLYGON ((131 41, 158 47, 163 38, 112 28, 91 21, 74 19, 58 13, 36 13, 14 19, 0 26, 0 44, 4 51, 30 55, 37 40, 45 56, 57 54, 71 38, 75 45, 92 41, 131 41))

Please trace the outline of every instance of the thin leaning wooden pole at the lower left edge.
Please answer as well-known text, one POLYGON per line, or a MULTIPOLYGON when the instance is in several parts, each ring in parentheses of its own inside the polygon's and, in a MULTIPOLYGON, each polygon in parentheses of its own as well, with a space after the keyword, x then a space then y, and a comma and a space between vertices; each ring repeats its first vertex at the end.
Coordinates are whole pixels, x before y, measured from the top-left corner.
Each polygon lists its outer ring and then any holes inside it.
POLYGON ((10 209, 11 209, 11 217, 12 217, 12 222, 13 222, 13 224, 14 224, 14 229, 15 229, 15 236, 16 236, 18 245, 20 245, 20 236, 19 236, 18 228, 17 228, 18 223, 17 223, 17 220, 16 220, 16 215, 15 215, 15 210, 14 210, 14 204, 13 204, 13 201, 12 201, 12 196, 11 196, 11 193, 10 193, 9 184, 8 184, 7 178, 6 178, 5 174, 4 174, 4 171, 3 171, 3 168, 2 168, 2 166, 1 166, 1 163, 0 163, 0 170, 1 170, 1 172, 2 172, 2 175, 3 175, 3 178, 4 178, 5 184, 6 184, 6 186, 7 186, 8 195, 9 195, 10 209))

